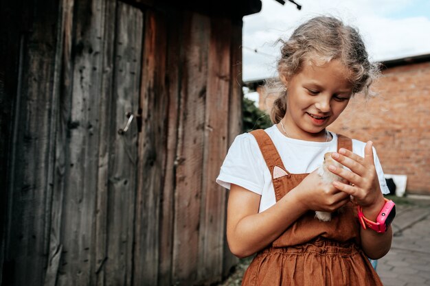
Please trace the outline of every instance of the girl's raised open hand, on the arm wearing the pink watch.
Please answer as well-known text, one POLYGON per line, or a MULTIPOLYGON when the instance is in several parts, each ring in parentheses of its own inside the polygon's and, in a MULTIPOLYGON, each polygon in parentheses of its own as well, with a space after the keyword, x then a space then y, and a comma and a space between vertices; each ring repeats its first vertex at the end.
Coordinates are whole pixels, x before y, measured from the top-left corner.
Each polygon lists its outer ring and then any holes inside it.
POLYGON ((332 158, 350 170, 330 166, 332 173, 346 179, 350 184, 333 182, 333 186, 344 191, 357 200, 357 204, 365 208, 381 210, 383 194, 379 186, 378 175, 374 165, 372 141, 368 141, 364 148, 364 158, 341 148, 339 153, 333 153, 332 158))

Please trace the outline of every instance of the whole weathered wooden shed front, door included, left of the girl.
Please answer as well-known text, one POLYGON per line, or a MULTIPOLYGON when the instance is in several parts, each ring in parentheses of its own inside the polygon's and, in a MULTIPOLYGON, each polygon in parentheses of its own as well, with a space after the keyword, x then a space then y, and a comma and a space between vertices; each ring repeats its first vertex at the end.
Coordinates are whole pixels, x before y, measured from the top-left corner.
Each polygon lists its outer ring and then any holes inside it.
POLYGON ((195 1, 6 2, 32 17, 10 33, 2 286, 219 281, 236 261, 214 180, 241 130, 242 22, 195 1))

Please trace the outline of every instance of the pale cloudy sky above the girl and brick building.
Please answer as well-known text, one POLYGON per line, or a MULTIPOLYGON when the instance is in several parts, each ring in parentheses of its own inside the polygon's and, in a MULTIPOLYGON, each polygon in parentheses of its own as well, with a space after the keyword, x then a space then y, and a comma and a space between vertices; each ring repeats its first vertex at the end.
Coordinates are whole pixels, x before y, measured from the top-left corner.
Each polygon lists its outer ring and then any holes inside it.
POLYGON ((262 10, 243 17, 242 79, 276 75, 279 38, 313 16, 336 16, 357 27, 371 60, 392 60, 430 53, 430 0, 261 0, 262 10))

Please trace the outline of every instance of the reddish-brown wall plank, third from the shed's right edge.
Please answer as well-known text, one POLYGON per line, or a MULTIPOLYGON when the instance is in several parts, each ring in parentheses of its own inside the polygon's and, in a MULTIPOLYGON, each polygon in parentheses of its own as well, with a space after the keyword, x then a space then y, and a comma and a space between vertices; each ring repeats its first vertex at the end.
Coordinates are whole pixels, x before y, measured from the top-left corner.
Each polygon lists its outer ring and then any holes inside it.
POLYGON ((192 285, 196 281, 199 268, 203 132, 210 19, 199 14, 187 14, 184 32, 185 62, 178 131, 172 282, 192 285))

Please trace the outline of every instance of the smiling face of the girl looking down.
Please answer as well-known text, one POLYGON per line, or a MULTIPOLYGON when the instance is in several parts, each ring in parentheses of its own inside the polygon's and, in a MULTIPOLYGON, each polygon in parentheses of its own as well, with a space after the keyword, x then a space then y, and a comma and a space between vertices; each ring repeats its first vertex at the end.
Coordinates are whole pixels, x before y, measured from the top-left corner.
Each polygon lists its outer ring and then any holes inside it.
POLYGON ((349 70, 339 60, 324 64, 305 61, 287 87, 284 126, 296 139, 326 141, 325 128, 339 117, 352 95, 349 70))

